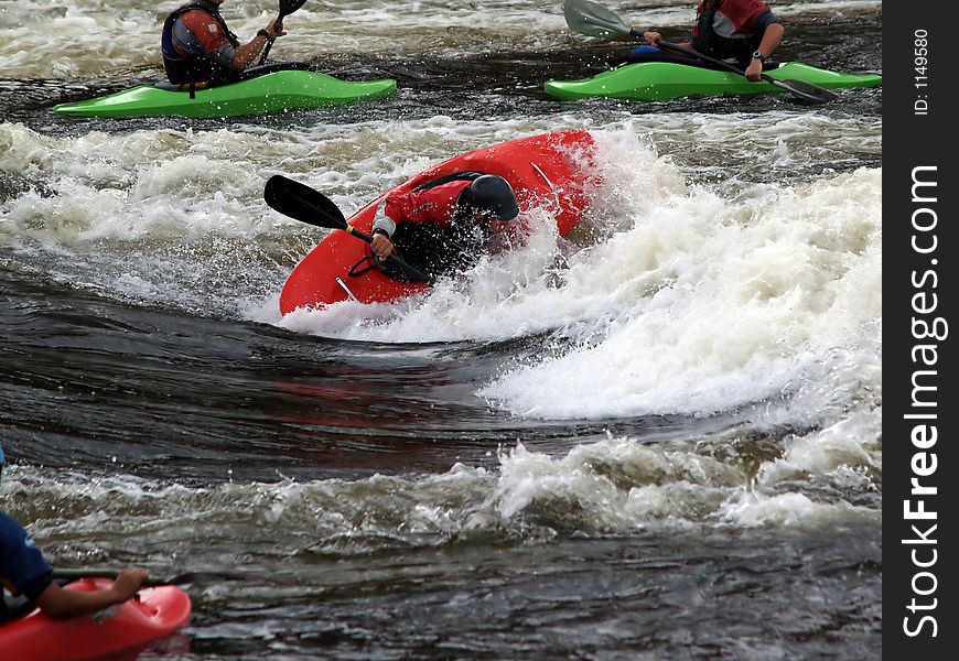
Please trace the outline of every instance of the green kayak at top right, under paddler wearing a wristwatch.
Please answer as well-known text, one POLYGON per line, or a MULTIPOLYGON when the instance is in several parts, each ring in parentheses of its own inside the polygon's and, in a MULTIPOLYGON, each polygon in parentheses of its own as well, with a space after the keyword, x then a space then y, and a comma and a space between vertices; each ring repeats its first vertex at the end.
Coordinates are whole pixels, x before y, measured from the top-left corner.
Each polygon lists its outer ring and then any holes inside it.
MULTIPOLYGON (((816 68, 801 62, 785 62, 765 72, 778 80, 801 80, 825 89, 876 87, 877 74, 844 74, 816 68)), ((766 82, 750 83, 732 72, 671 62, 639 62, 581 80, 547 80, 546 90, 563 100, 607 97, 637 101, 665 101, 690 96, 720 94, 777 94, 784 90, 766 82)))

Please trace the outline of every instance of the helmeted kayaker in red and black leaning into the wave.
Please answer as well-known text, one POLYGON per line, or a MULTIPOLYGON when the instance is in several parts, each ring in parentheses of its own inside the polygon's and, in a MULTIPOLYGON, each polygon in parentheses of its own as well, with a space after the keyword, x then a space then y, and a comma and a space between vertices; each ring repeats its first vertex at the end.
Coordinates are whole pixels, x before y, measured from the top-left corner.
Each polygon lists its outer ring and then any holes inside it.
POLYGON ((373 223, 373 252, 380 262, 394 251, 432 277, 461 272, 483 253, 496 253, 521 240, 519 205, 502 176, 454 172, 390 193, 373 223))

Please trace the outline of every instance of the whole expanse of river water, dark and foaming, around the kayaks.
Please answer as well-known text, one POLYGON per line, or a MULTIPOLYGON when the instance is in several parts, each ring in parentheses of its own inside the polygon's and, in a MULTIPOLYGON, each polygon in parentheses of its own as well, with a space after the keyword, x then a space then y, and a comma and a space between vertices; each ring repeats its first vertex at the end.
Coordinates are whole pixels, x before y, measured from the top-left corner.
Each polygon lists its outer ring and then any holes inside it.
MULTIPOLYGON (((243 40, 267 2, 225 2, 243 40)), ((0 1, 0 503, 56 566, 188 588, 141 658, 877 658, 882 90, 560 102, 626 44, 560 2, 310 1, 272 56, 396 96, 76 120, 161 77, 177 2, 0 1), (557 246, 281 317, 326 230, 452 155, 588 129, 557 246), (550 286, 540 268, 570 269, 550 286)), ((606 2, 681 41, 692 3, 606 2)), ((877 1, 776 2, 780 59, 881 71, 877 1)))

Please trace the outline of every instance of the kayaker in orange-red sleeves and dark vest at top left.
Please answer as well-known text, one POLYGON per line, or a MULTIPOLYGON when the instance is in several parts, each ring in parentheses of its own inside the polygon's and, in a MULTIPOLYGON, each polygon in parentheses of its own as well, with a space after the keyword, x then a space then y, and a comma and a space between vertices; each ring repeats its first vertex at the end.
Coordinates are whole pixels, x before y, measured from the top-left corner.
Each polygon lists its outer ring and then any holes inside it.
POLYGON ((220 4, 223 0, 195 0, 166 18, 161 50, 163 68, 171 83, 236 80, 267 44, 287 34, 281 17, 277 17, 249 43, 240 45, 219 14, 220 4))

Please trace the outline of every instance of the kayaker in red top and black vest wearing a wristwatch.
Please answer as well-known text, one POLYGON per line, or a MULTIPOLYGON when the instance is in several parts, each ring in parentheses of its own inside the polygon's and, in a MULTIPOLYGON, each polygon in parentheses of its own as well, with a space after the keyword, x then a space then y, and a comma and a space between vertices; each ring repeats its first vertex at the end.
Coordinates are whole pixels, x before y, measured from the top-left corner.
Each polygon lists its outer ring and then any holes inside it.
MULTIPOLYGON (((735 58, 745 68, 746 78, 762 79, 763 65, 783 40, 785 29, 762 0, 702 0, 696 8, 692 42, 679 44, 718 59, 735 58)), ((650 46, 662 39, 647 30, 643 39, 650 46)), ((643 48, 626 56, 625 62, 650 59, 643 48)))

